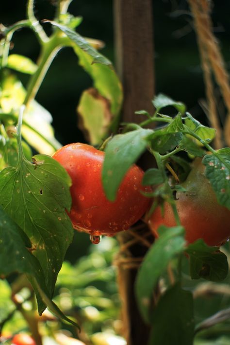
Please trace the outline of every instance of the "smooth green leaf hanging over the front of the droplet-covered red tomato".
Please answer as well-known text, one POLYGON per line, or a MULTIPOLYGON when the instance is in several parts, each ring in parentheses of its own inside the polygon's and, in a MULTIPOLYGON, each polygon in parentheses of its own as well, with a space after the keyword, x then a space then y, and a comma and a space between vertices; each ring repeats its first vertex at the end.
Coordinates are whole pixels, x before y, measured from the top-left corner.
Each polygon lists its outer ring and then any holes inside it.
POLYGON ((105 148, 105 160, 102 169, 102 182, 105 194, 114 201, 116 191, 131 165, 145 151, 146 137, 150 129, 137 129, 125 134, 118 134, 110 140, 105 148))

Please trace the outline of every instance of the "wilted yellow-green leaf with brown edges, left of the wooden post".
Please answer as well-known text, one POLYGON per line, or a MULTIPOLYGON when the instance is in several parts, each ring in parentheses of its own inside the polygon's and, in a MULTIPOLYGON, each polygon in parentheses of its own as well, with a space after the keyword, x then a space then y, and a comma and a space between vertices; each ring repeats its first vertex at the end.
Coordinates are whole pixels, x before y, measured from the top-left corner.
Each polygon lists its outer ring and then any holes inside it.
POLYGON ((78 114, 81 119, 79 128, 85 133, 87 141, 92 145, 99 144, 113 118, 109 102, 96 89, 90 88, 82 93, 78 114))

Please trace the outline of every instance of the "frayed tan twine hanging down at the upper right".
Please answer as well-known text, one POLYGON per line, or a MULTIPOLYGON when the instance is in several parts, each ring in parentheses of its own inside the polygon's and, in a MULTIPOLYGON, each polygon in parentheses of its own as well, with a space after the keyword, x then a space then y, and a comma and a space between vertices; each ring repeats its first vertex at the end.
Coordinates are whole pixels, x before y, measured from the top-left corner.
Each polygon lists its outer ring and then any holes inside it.
POLYGON ((211 21, 211 7, 209 0, 188 0, 193 13, 197 42, 201 56, 201 63, 204 72, 206 86, 206 97, 209 104, 210 123, 216 129, 215 148, 223 147, 222 131, 217 116, 214 101, 214 87, 212 82, 212 70, 215 80, 220 88, 224 103, 226 104, 228 116, 224 125, 225 141, 230 146, 230 85, 229 74, 224 66, 224 60, 219 49, 218 42, 213 34, 211 21))

